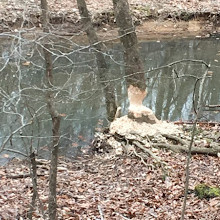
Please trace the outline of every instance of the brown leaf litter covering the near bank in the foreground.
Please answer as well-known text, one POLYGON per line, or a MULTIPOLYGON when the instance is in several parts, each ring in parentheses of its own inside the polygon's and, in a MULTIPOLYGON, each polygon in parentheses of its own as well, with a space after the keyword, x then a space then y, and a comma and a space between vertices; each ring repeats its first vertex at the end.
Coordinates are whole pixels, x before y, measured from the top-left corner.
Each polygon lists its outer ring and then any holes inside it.
MULTIPOLYGON (((202 129, 219 135, 218 124, 202 129)), ((197 142, 198 147, 207 145, 204 140, 197 142)), ((219 143, 219 138, 216 141, 219 143)), ((152 167, 134 155, 106 152, 77 160, 60 158, 57 179, 59 219, 180 219, 187 155, 162 149, 154 153, 166 163, 166 175, 151 157, 145 162, 152 167)), ((38 193, 45 211, 49 161, 38 160, 37 173, 38 193)), ((0 218, 27 219, 33 193, 28 163, 13 159, 0 168, 0 179, 0 218)), ((219 186, 219 182, 220 157, 193 155, 185 219, 219 219, 220 197, 199 199, 194 191, 197 184, 219 186)), ((37 202, 33 219, 43 219, 39 207, 37 202)))

